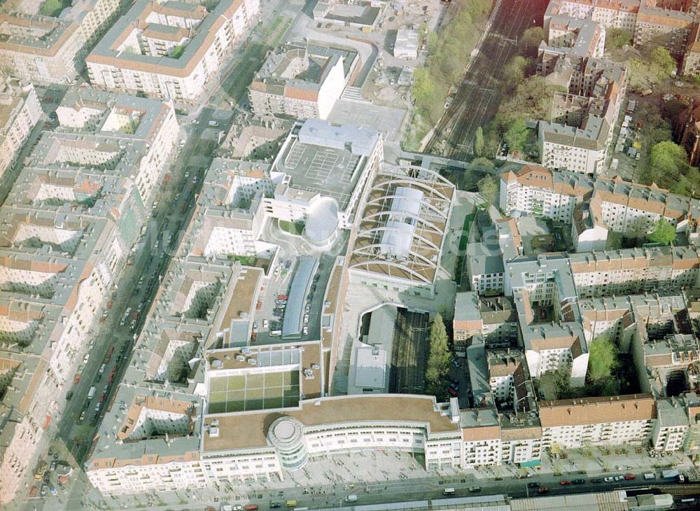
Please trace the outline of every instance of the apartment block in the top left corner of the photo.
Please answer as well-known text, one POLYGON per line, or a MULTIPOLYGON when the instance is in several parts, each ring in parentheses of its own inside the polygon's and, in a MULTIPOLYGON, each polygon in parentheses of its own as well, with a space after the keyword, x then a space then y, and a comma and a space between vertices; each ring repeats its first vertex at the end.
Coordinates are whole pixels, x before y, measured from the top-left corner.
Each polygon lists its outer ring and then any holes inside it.
POLYGON ((120 0, 74 2, 57 16, 27 10, 32 3, 8 1, 0 13, 0 66, 39 83, 71 83, 85 55, 118 13, 120 0))

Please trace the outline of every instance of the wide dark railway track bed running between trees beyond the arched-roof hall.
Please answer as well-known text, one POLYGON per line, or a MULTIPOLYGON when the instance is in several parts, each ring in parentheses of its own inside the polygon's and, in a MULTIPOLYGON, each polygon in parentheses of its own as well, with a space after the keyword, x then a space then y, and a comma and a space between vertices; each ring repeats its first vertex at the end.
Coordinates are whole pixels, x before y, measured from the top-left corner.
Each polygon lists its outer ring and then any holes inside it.
POLYGON ((491 31, 458 87, 449 109, 437 123, 425 151, 433 151, 447 137, 444 153, 464 159, 471 153, 477 127, 485 125, 498 111, 506 62, 517 55, 514 41, 533 20, 541 20, 547 0, 504 1, 491 31))

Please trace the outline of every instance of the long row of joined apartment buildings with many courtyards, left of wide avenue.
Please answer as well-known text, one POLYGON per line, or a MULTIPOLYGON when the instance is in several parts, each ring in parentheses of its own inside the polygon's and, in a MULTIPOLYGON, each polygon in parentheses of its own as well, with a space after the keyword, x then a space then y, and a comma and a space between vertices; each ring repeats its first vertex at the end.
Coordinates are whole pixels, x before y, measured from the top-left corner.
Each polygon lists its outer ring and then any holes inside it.
POLYGON ((3 501, 59 419, 177 135, 172 105, 89 89, 66 94, 57 116, 0 208, 3 501))

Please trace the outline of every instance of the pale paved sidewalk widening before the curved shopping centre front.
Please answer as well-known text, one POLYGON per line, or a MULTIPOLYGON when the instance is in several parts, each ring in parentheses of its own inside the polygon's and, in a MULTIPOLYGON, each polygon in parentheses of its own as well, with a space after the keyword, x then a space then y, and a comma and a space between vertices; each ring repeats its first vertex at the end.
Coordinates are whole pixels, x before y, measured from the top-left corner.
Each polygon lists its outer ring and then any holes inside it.
MULTIPOLYGON (((415 457, 409 453, 391 451, 372 451, 334 456, 333 458, 312 458, 306 467, 298 472, 286 472, 284 479, 271 482, 237 482, 218 483, 207 489, 188 489, 180 491, 147 492, 130 496, 99 495, 95 489, 85 489, 81 494, 80 509, 121 509, 143 507, 171 507, 192 509, 193 507, 216 505, 216 503, 245 503, 251 500, 283 500, 281 494, 312 493, 328 496, 330 490, 336 491, 384 491, 388 486, 431 486, 436 488, 440 479, 459 477, 473 479, 475 482, 486 482, 500 478, 504 484, 512 484, 515 479, 537 477, 547 479, 561 477, 575 479, 582 477, 604 477, 605 475, 620 475, 631 472, 636 475, 643 472, 659 472, 661 468, 689 468, 692 466, 687 456, 675 453, 662 458, 650 458, 642 449, 636 453, 635 447, 620 446, 617 450, 626 454, 615 454, 615 448, 610 454, 605 449, 588 447, 569 451, 566 458, 552 458, 548 454, 542 456, 540 468, 521 469, 517 465, 502 465, 492 468, 474 468, 466 470, 425 470, 422 456, 415 457), (388 486, 387 486, 388 485, 388 486), (363 486, 360 489, 360 486, 363 486), (84 503, 84 504, 83 504, 84 503), (97 507, 100 506, 100 507, 97 507)), ((69 499, 77 504, 78 499, 69 499)), ((73 504, 73 505, 75 505, 73 504)), ((319 501, 319 505, 322 502, 319 501)), ((66 507, 76 509, 76 507, 66 507)))

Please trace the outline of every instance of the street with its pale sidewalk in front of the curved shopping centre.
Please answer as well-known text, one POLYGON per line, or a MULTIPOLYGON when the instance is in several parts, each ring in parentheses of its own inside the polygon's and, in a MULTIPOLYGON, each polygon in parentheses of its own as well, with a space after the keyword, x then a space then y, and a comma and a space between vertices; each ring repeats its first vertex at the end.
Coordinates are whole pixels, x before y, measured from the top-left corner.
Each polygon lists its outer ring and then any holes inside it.
MULTIPOLYGON (((455 489, 454 496, 482 496, 507 494, 511 498, 538 497, 538 489, 528 487, 538 483, 546 487, 548 495, 567 495, 583 492, 612 491, 640 487, 659 487, 676 495, 692 495, 694 486, 678 486, 675 479, 645 481, 641 470, 632 470, 635 479, 617 482, 591 482, 602 479, 603 473, 575 473, 555 476, 551 472, 532 470, 532 477, 517 479, 510 468, 478 469, 457 473, 451 470, 426 472, 419 467, 419 460, 409 454, 374 451, 372 453, 340 455, 332 459, 311 461, 300 472, 286 475, 286 481, 267 484, 246 484, 248 489, 235 483, 223 484, 217 489, 193 489, 188 491, 149 492, 134 496, 105 498, 105 509, 137 510, 147 506, 154 510, 189 510, 193 506, 223 503, 243 505, 252 503, 266 510, 272 505, 284 505, 295 500, 297 507, 310 509, 348 507, 347 496, 357 496, 357 504, 393 503, 411 500, 443 498, 444 488, 455 489), (542 473, 544 472, 544 473, 542 473), (562 480, 584 479, 583 484, 560 484, 562 480), (253 489, 251 489, 251 487, 253 489), (471 491, 470 491, 471 490, 471 491)), ((620 472, 615 472, 619 475, 620 472)), ((99 503, 95 491, 90 491, 87 502, 99 503)), ((75 500, 77 505, 78 500, 75 500)), ((71 507, 70 509, 81 509, 71 507)))

